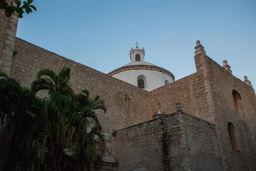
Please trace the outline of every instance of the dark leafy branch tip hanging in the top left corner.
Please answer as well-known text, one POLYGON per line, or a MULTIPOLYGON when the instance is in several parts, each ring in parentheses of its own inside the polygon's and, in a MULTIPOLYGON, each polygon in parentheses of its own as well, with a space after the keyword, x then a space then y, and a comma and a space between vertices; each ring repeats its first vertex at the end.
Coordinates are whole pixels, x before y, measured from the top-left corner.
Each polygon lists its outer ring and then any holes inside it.
POLYGON ((12 2, 11 5, 9 5, 6 0, 0 0, 0 9, 5 10, 6 17, 11 17, 14 12, 18 13, 18 17, 22 18, 23 14, 26 12, 29 14, 30 12, 33 12, 32 9, 36 11, 35 6, 31 5, 33 3, 33 0, 15 0, 16 5, 12 2), (24 12, 25 10, 25 12, 24 12))

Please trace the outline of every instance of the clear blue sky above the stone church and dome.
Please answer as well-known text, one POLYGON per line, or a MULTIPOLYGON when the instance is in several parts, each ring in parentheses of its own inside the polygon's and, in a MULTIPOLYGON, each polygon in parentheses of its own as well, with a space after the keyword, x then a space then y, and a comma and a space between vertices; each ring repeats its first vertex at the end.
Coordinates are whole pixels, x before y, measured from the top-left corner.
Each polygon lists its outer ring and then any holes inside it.
MULTIPOLYGON (((104 73, 131 47, 175 79, 195 70, 195 42, 233 75, 256 87, 255 0, 34 0, 38 9, 19 20, 17 37, 104 73)), ((129 56, 120 65, 130 62, 129 56)), ((254 88, 255 88, 254 87, 254 88)))

